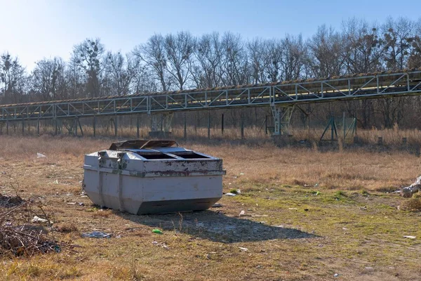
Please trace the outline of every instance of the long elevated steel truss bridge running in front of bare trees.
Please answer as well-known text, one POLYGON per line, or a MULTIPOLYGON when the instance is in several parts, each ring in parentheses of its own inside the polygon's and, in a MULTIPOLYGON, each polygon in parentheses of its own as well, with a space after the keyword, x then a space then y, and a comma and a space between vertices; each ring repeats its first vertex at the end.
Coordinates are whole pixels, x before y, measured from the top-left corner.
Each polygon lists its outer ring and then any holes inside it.
POLYGON ((275 133, 279 133, 282 126, 288 127, 292 107, 296 104, 420 94, 421 70, 410 70, 334 79, 0 105, 0 122, 271 106, 275 133), (286 109, 281 112, 279 107, 286 109))

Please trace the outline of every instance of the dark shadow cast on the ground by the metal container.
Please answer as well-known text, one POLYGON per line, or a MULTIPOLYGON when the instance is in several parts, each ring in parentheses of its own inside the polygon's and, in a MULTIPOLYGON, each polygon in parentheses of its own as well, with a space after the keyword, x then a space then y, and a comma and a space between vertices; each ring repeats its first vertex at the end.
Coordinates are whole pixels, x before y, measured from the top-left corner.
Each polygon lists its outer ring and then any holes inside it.
POLYGON ((117 214, 145 226, 160 228, 163 231, 174 230, 213 242, 235 243, 317 237, 294 228, 268 226, 248 218, 234 218, 210 210, 143 216, 117 214))

